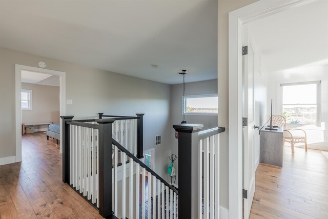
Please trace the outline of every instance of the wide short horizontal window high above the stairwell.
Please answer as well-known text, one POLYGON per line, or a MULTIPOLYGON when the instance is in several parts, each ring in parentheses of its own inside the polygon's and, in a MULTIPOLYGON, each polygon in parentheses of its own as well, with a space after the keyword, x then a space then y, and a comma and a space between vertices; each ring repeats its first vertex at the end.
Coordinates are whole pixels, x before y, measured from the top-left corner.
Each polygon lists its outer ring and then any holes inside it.
POLYGON ((217 94, 185 96, 183 101, 185 102, 186 115, 217 115, 217 94))

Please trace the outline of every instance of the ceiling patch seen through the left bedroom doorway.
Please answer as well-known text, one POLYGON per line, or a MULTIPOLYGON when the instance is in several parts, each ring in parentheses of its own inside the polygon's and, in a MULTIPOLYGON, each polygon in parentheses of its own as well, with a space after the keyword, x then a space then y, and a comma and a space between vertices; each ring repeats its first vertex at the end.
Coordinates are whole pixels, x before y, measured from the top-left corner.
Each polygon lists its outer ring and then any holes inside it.
POLYGON ((21 82, 59 87, 59 76, 22 70, 21 82))

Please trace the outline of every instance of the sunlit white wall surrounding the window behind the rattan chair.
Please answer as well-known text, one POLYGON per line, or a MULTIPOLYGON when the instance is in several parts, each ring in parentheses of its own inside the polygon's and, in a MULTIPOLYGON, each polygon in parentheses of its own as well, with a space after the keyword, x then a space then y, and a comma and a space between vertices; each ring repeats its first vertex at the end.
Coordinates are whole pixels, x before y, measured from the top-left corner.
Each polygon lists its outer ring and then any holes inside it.
POLYGON ((308 147, 313 149, 328 150, 328 65, 304 66, 288 70, 272 72, 269 76, 268 98, 274 99, 274 114, 282 114, 280 101, 280 84, 306 81, 321 81, 321 127, 288 124, 286 128, 301 128, 308 136, 308 147))

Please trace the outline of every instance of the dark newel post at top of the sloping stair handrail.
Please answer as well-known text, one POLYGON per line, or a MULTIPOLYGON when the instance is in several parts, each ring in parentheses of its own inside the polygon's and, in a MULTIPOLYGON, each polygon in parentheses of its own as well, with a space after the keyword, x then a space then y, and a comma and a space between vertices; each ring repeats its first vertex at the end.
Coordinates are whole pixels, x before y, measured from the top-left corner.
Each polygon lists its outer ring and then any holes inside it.
POLYGON ((112 123, 99 119, 99 214, 105 218, 113 214, 112 208, 112 123))

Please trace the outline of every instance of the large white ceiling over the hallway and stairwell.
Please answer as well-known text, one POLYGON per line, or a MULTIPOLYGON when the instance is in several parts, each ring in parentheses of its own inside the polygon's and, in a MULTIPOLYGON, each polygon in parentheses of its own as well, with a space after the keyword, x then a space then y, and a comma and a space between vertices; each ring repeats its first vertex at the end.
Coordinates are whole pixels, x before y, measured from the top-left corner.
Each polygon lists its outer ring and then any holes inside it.
POLYGON ((217 78, 217 1, 0 4, 2 47, 167 84, 182 69, 186 82, 217 78))

